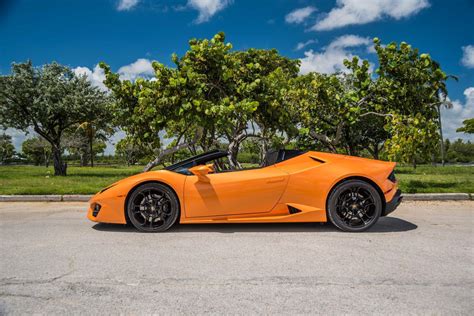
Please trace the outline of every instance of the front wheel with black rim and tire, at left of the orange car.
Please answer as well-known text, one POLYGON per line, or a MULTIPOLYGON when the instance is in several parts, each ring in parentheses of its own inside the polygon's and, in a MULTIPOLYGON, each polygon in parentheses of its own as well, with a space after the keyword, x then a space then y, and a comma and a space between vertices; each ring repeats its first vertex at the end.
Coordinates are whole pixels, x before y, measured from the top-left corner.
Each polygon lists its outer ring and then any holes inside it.
POLYGON ((166 185, 146 183, 130 195, 127 215, 130 223, 139 231, 164 232, 178 220, 178 198, 166 185))

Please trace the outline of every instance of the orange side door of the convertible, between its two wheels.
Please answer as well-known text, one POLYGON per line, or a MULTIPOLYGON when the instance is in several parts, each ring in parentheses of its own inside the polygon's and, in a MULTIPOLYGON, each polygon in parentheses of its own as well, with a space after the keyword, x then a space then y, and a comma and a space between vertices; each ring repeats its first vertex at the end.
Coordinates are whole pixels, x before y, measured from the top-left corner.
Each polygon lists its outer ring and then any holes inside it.
POLYGON ((278 202, 288 174, 274 166, 187 176, 184 185, 186 217, 265 213, 278 202))

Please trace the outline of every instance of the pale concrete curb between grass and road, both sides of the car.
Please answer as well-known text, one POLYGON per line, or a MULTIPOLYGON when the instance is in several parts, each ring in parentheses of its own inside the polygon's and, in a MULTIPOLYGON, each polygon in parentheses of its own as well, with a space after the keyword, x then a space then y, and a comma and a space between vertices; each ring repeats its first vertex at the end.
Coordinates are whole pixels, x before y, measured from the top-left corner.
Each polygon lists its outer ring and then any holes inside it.
MULTIPOLYGON (((406 193, 404 201, 469 201, 472 193, 406 193)), ((88 202, 92 195, 0 195, 0 202, 88 202)))

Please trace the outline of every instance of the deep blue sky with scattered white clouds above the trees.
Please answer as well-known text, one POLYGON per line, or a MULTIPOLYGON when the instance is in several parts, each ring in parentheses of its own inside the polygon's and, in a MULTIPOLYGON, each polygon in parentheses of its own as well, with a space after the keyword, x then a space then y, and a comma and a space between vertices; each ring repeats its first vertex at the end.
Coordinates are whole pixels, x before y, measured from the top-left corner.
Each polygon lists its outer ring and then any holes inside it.
MULTIPOLYGON (((473 16, 472 0, 0 0, 0 73, 57 61, 100 86, 100 61, 124 78, 150 75, 151 60, 170 64, 190 38, 219 31, 236 50, 276 48, 301 59, 302 72, 334 72, 353 55, 375 64, 370 39, 379 37, 412 44, 459 78, 448 85, 444 130, 469 139, 455 129, 474 117, 473 16)), ((18 147, 24 136, 9 132, 18 147)))

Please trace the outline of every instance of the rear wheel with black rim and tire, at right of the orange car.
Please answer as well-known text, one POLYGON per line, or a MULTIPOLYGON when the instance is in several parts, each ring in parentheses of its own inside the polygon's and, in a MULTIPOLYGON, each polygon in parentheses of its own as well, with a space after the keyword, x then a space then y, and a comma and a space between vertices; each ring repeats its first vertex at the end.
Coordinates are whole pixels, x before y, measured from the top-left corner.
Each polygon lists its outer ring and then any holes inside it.
POLYGON ((361 232, 372 227, 382 213, 382 199, 377 190, 361 180, 345 181, 328 199, 328 217, 337 228, 361 232))

